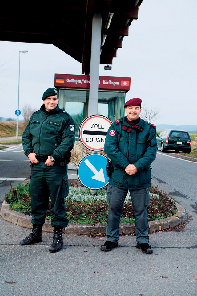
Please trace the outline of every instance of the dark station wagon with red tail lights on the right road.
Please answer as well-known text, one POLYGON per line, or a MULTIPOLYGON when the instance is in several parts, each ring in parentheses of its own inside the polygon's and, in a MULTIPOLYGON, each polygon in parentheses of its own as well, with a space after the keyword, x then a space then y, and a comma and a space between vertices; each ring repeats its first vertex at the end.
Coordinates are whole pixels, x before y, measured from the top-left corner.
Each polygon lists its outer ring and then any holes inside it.
POLYGON ((166 150, 175 150, 175 152, 183 151, 191 152, 191 138, 188 132, 184 130, 163 130, 157 135, 157 149, 161 148, 161 152, 166 150))

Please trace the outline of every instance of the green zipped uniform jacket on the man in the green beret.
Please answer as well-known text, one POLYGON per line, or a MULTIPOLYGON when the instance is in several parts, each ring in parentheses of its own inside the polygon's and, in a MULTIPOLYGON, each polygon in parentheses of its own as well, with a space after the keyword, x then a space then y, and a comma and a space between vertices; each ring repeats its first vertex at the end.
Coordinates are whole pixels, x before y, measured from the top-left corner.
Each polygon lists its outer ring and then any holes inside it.
POLYGON ((75 142, 75 126, 70 115, 59 108, 46 112, 43 104, 32 114, 22 134, 25 155, 50 155, 61 160, 70 153, 75 142))

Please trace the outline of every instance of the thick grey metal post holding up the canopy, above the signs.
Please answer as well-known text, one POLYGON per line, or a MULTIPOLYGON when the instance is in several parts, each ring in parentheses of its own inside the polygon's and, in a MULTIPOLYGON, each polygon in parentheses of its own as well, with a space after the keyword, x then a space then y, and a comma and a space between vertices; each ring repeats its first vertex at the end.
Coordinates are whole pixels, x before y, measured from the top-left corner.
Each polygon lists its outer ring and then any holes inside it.
POLYGON ((101 50, 101 14, 94 13, 92 20, 92 43, 90 59, 90 95, 88 116, 98 114, 99 65, 101 50))

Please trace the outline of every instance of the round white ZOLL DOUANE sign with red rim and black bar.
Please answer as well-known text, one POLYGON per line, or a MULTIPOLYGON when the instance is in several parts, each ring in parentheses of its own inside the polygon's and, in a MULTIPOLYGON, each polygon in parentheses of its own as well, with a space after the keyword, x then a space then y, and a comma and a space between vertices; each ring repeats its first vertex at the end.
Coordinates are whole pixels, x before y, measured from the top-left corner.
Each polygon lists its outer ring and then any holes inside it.
POLYGON ((82 144, 93 151, 103 151, 111 120, 102 115, 92 115, 84 119, 79 127, 82 144))

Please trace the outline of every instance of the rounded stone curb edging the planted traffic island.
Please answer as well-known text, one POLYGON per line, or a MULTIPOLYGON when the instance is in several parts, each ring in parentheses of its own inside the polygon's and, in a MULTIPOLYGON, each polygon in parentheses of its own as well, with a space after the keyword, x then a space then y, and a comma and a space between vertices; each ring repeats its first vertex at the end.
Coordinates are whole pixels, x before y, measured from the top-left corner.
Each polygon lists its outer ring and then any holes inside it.
MULTIPOLYGON (((169 199, 171 199, 169 197, 169 199)), ((171 199, 173 200, 173 199, 171 199)), ((150 231, 158 231, 161 227, 162 229, 167 229, 169 227, 174 227, 176 225, 179 225, 183 223, 185 220, 187 220, 187 215, 185 209, 175 202, 173 200, 178 212, 171 217, 164 218, 161 220, 155 220, 148 222, 150 231)), ((16 224, 18 226, 31 228, 31 216, 24 215, 22 213, 18 213, 14 210, 11 210, 9 207, 9 204, 5 203, 5 200, 2 204, 2 207, 0 209, 0 216, 13 224, 16 224)), ((45 224, 42 227, 42 230, 45 232, 53 232, 54 228, 51 226, 49 220, 45 220, 45 224)), ((121 223, 119 227, 120 234, 129 234, 132 233, 135 230, 135 224, 130 223, 121 223)), ((90 232, 98 232, 98 233, 106 233, 106 224, 97 224, 97 225, 91 225, 91 224, 77 224, 77 223, 69 223, 68 226, 65 229, 66 234, 89 234, 90 232), (95 229, 95 230, 94 230, 95 229)))

